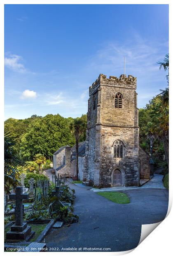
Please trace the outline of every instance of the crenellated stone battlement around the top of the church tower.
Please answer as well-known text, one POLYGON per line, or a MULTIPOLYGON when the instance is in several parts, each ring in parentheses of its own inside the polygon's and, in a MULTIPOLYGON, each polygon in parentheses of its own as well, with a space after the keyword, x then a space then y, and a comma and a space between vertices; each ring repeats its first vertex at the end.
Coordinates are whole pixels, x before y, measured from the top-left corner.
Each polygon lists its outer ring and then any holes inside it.
POLYGON ((110 76, 106 78, 106 75, 100 74, 97 80, 89 87, 89 95, 94 93, 99 86, 114 86, 122 88, 131 88, 136 90, 136 77, 124 74, 117 78, 116 76, 110 76))

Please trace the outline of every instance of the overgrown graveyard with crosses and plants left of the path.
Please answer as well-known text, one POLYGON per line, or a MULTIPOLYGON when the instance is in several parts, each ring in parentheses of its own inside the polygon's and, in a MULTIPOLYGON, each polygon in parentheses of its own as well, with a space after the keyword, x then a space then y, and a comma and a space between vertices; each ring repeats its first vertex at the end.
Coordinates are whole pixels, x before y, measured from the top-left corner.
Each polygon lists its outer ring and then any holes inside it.
POLYGON ((42 175, 42 179, 30 178, 26 183, 27 175, 21 173, 21 186, 6 195, 5 248, 15 251, 23 246, 25 251, 32 243, 32 248, 45 248, 46 244, 41 242, 51 228, 78 221, 72 206, 75 190, 67 185, 65 175, 52 175, 51 180, 45 171, 42 175))

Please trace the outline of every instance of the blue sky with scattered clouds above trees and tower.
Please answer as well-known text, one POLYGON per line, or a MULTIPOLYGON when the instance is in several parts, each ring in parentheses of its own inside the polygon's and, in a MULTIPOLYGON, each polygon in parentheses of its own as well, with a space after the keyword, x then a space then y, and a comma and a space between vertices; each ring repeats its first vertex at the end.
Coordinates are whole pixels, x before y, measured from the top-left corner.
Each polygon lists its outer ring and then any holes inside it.
POLYGON ((168 5, 5 5, 5 119, 81 116, 100 73, 137 77, 138 107, 166 85, 168 5))

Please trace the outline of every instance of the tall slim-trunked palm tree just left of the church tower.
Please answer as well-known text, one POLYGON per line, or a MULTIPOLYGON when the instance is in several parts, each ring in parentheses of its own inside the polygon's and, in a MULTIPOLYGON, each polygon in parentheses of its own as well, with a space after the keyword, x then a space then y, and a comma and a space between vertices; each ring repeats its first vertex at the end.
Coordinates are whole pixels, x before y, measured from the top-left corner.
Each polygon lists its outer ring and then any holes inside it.
POLYGON ((79 155, 79 135, 86 130, 86 122, 81 118, 77 117, 70 123, 70 130, 75 134, 76 140, 76 176, 78 180, 79 166, 78 166, 78 155, 79 155))

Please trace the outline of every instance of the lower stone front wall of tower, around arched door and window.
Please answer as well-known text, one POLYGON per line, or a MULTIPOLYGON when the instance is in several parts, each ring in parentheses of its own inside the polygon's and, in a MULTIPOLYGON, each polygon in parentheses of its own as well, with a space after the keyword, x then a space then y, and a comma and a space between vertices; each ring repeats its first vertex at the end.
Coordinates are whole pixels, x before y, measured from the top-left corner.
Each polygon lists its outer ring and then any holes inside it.
MULTIPOLYGON (((138 129, 138 128, 136 128, 138 129)), ((120 167, 125 172, 124 186, 138 186, 138 147, 134 143, 136 131, 133 128, 102 128, 102 164, 100 171, 100 183, 105 187, 112 186, 112 172, 120 167), (124 157, 114 157, 114 142, 121 140, 124 143, 124 157)))

